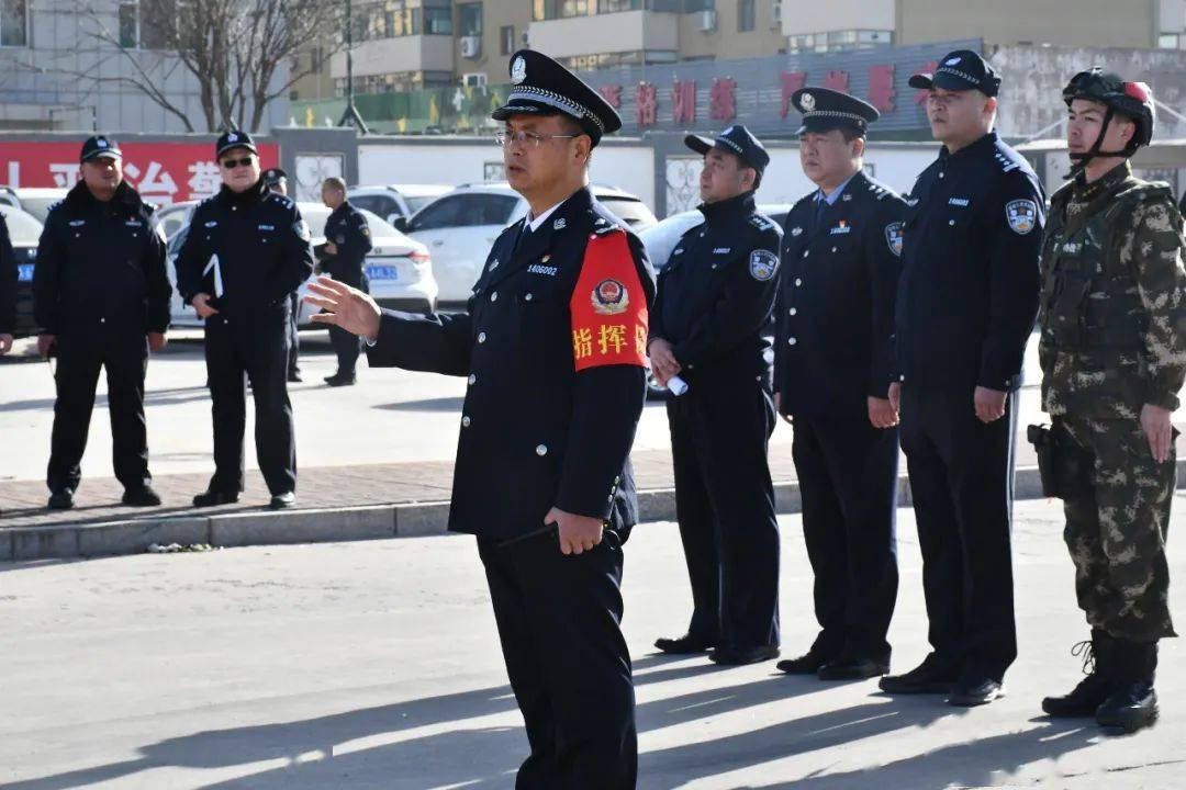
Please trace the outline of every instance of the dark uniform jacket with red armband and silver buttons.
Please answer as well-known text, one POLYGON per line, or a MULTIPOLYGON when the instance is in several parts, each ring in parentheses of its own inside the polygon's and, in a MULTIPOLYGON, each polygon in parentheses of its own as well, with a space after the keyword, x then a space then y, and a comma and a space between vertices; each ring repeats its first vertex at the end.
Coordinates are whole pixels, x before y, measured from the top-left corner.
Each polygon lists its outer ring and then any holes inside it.
POLYGON ((466 313, 384 310, 369 361, 470 377, 449 529, 524 537, 553 506, 629 528, 655 295, 646 255, 587 188, 538 230, 523 226, 495 242, 466 313), (605 361, 614 354, 624 361, 605 361))

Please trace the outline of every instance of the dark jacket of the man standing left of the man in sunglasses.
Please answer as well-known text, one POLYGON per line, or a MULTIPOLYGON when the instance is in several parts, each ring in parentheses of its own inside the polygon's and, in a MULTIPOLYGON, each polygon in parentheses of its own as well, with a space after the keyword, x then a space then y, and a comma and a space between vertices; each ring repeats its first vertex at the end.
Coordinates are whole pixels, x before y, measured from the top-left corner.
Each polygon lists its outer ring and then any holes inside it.
POLYGON ((43 332, 165 332, 171 291, 152 208, 126 182, 103 203, 79 181, 50 208, 33 268, 43 332))

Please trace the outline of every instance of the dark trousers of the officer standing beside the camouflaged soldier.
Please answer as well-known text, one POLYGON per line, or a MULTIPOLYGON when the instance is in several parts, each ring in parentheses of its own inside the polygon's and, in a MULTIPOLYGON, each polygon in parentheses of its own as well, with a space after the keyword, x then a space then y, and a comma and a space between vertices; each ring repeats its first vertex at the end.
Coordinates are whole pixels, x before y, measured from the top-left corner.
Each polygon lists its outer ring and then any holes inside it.
POLYGON ((1013 614, 1014 437, 976 418, 975 385, 903 387, 901 447, 923 553, 929 638, 938 660, 1000 681, 1018 656, 1013 614))

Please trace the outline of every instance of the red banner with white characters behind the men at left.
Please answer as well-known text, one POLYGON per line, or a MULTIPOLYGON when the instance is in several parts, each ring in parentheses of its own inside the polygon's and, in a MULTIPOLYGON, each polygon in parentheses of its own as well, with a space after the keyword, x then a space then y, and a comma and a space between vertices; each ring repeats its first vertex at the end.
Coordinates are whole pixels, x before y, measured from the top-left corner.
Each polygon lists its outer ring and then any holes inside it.
MULTIPOLYGON (((213 142, 116 142, 123 179, 148 203, 209 198, 222 186, 213 142)), ((280 146, 256 143, 261 167, 280 166, 280 146)), ((0 146, 0 184, 11 187, 71 187, 78 180, 82 142, 9 142, 0 146)))

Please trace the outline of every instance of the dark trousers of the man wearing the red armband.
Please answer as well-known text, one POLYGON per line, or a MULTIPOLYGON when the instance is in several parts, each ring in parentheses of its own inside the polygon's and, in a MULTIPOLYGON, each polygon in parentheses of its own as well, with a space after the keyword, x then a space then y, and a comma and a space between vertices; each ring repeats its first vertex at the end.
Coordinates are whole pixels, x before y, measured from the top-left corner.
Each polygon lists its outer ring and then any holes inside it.
POLYGON ((478 551, 531 745, 516 790, 632 790, 638 734, 616 535, 567 557, 555 532, 479 539, 478 551))

